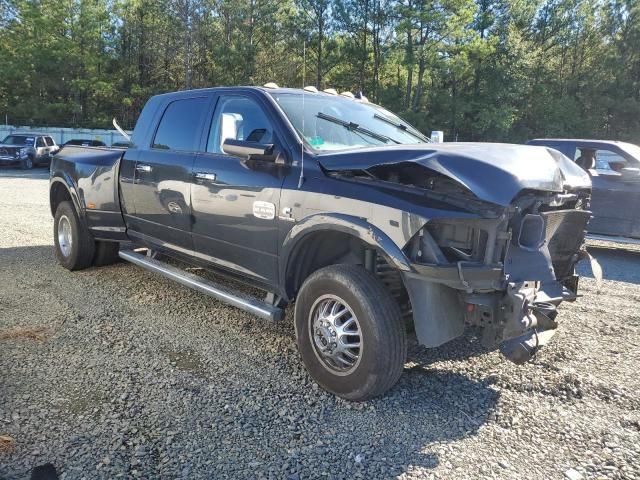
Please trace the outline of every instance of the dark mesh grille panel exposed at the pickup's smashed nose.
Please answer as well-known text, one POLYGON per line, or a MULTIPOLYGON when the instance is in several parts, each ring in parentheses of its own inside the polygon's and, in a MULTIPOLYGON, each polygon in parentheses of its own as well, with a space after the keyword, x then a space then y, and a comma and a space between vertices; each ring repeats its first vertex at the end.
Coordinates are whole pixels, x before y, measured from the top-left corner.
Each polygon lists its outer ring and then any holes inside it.
POLYGON ((575 255, 584 242, 591 212, 555 210, 540 213, 545 219, 545 239, 557 279, 573 274, 575 255))

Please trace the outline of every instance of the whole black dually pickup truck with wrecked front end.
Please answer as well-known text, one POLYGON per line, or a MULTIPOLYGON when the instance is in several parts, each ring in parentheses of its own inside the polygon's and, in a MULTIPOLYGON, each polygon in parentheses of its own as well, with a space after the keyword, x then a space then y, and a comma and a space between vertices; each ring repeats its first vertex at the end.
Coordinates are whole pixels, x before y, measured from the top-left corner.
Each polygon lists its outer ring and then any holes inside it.
POLYGON ((433 144, 313 89, 155 96, 127 150, 66 147, 50 187, 64 267, 120 257, 269 319, 295 302, 306 368, 352 400, 396 383, 407 319, 426 347, 480 327, 528 360, 576 298, 591 217, 588 175, 553 149, 433 144))

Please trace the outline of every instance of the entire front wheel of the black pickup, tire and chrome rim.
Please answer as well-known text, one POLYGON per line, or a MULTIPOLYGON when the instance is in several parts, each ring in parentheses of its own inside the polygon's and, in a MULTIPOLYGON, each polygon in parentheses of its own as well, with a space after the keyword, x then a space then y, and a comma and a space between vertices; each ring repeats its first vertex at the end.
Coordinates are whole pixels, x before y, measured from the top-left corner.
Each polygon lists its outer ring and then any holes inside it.
POLYGON ((362 401, 391 388, 407 355, 397 302, 371 273, 332 265, 307 278, 295 309, 305 367, 325 390, 362 401))

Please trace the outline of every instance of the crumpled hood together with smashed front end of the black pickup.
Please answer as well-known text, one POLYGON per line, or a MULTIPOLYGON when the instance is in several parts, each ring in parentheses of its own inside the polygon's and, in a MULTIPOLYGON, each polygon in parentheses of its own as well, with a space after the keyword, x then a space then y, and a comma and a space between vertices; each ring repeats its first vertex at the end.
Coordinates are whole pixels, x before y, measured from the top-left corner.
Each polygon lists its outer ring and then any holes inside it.
POLYGON ((571 160, 543 148, 440 144, 321 163, 416 199, 426 223, 404 246, 412 268, 401 274, 422 345, 481 327, 486 347, 523 363, 554 334, 557 307, 577 297, 574 267, 588 256, 591 182, 571 160))

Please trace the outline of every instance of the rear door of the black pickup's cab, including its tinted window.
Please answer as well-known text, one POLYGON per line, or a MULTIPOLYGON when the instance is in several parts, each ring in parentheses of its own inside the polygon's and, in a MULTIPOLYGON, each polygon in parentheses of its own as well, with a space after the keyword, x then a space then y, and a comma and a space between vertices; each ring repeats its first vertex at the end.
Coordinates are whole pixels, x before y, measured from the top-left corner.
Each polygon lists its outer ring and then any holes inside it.
POLYGON ((210 95, 194 94, 159 109, 151 144, 140 148, 127 188, 134 204, 127 215, 131 236, 191 253, 191 173, 210 102, 210 95))

